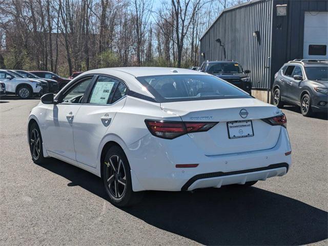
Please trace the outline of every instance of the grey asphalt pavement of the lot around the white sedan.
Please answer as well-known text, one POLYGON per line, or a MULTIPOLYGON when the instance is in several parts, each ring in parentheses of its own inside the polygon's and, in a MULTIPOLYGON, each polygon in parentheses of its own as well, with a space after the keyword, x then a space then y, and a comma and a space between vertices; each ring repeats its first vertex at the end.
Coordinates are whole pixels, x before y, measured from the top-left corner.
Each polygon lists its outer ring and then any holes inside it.
POLYGON ((101 180, 63 161, 35 165, 26 120, 38 99, 0 99, 1 245, 327 245, 328 120, 286 107, 293 166, 247 189, 147 192, 106 200, 101 180))

